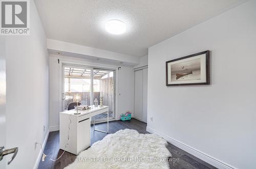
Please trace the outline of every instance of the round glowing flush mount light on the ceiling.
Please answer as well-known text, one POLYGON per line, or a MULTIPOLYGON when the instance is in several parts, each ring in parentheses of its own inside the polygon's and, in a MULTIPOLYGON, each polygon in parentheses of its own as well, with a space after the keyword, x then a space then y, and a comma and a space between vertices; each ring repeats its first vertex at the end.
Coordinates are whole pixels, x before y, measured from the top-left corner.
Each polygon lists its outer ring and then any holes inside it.
POLYGON ((120 35, 125 33, 126 26, 120 20, 109 20, 105 23, 105 30, 110 34, 120 35))

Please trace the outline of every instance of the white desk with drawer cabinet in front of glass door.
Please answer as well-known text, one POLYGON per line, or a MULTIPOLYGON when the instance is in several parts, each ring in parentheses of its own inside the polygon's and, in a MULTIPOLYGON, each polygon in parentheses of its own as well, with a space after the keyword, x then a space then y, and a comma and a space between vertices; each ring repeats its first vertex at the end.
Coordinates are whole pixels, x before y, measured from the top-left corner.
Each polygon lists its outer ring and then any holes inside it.
MULTIPOLYGON (((109 107, 91 106, 88 110, 78 110, 81 114, 74 115, 76 110, 62 111, 59 113, 59 148, 72 154, 90 147, 91 144, 91 118, 93 116, 108 112, 107 130, 95 131, 109 132, 109 107)), ((95 123, 94 123, 95 125, 95 123)))

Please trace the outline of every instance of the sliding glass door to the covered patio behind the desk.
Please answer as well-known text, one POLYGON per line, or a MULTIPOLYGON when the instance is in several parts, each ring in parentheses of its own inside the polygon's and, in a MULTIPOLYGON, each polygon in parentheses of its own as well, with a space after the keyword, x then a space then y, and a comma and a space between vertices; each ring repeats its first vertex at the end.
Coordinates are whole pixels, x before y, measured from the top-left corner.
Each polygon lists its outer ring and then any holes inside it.
MULTIPOLYGON (((110 119, 115 118, 115 71, 82 66, 62 66, 62 110, 74 109, 75 96, 80 104, 92 105, 97 99, 109 106, 110 119), (93 99, 91 99, 93 98, 93 99)), ((96 121, 106 120, 106 114, 96 117, 96 121)))

